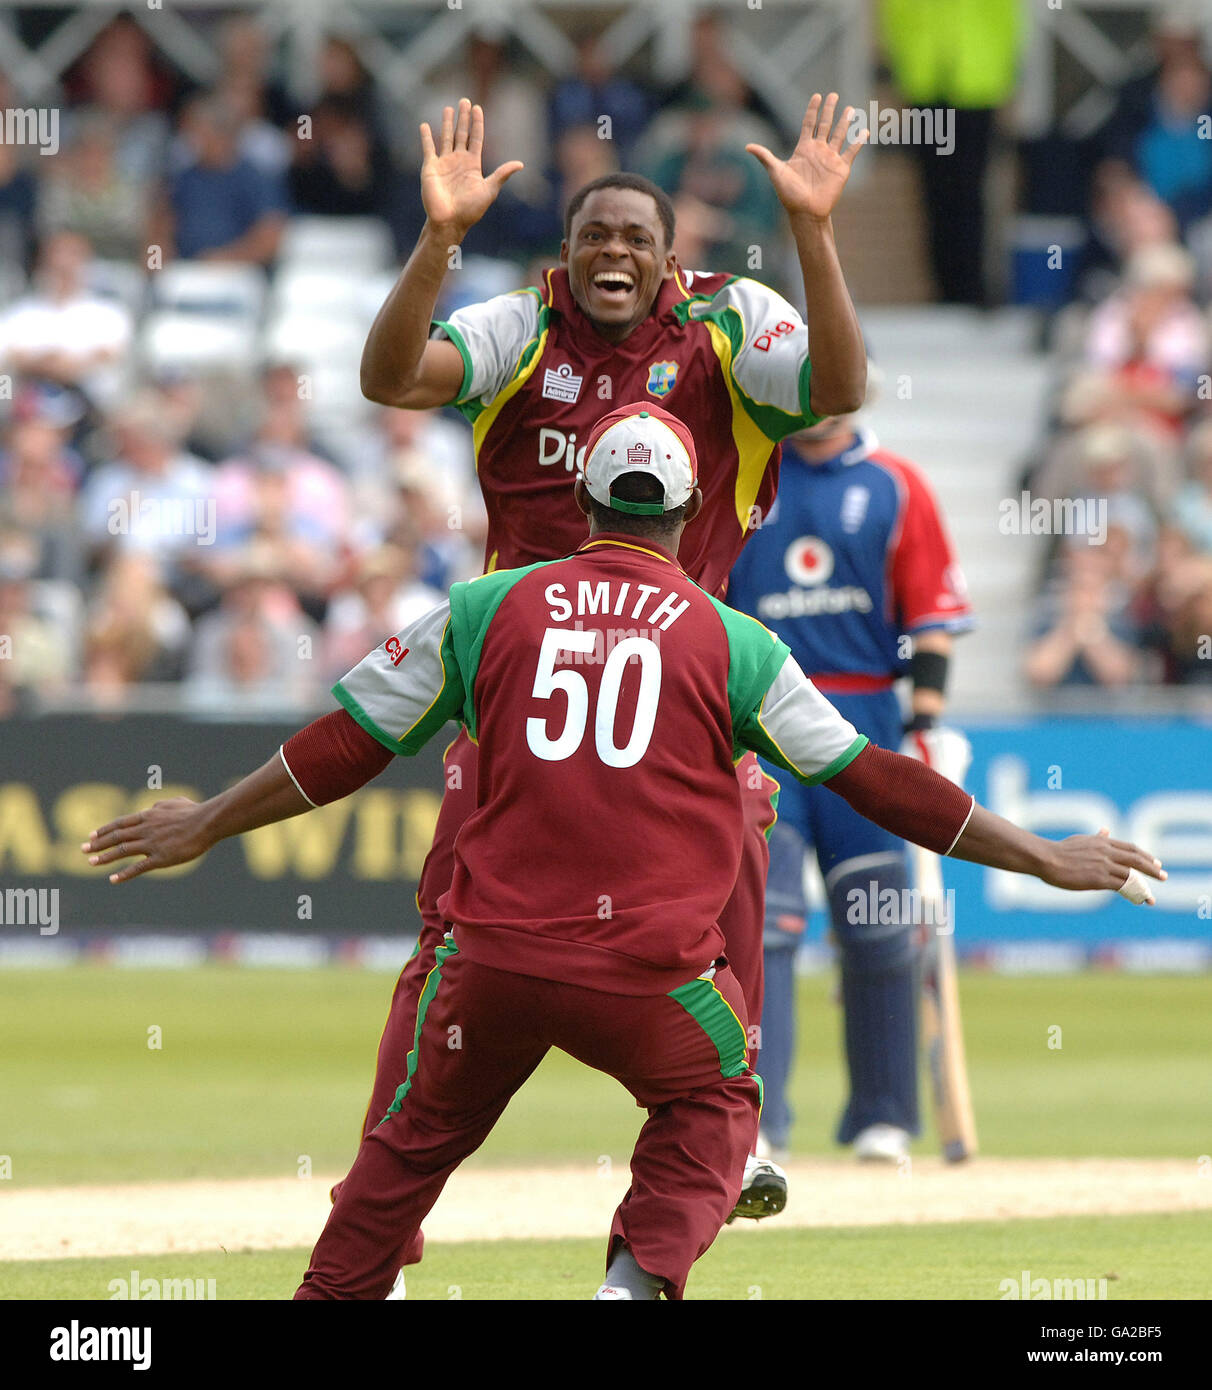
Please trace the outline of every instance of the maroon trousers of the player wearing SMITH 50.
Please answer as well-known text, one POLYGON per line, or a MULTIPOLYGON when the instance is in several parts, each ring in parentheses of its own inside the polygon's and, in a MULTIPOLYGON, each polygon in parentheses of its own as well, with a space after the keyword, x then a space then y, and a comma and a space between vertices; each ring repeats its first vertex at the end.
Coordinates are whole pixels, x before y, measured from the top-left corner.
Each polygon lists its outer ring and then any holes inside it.
POLYGON ((681 1298, 737 1204, 758 1137, 760 1083, 731 970, 670 994, 606 994, 477 965, 457 935, 435 952, 403 1083, 363 1140, 295 1297, 385 1298, 446 1179, 559 1047, 648 1109, 607 1268, 625 1243, 681 1298))

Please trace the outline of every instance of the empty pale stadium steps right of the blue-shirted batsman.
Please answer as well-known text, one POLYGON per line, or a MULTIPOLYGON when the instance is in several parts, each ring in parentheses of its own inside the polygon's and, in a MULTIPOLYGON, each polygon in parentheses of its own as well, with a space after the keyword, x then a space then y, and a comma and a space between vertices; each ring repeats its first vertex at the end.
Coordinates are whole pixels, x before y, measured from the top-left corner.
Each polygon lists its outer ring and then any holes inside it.
POLYGON ((1020 676, 1040 538, 1005 535, 999 506, 1019 495, 1040 438, 1051 360, 1030 310, 866 309, 881 382, 869 411, 880 442, 917 463, 951 527, 980 626, 956 649, 958 714, 1023 709, 1020 676))

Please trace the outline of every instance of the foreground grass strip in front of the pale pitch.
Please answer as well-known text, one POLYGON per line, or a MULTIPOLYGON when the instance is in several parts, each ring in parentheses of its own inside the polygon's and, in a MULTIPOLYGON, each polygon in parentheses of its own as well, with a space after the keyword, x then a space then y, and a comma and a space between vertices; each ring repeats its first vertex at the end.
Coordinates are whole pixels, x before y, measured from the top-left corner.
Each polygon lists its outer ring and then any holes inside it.
MULTIPOLYGON (((1004 1279, 1106 1279, 1108 1300, 1212 1297, 1212 1213, 970 1222, 963 1226, 724 1230, 689 1298, 1001 1298, 1004 1279)), ((146 1279, 215 1282, 221 1300, 288 1298, 309 1250, 43 1259, 0 1265, 0 1300, 115 1297, 146 1279)), ((409 1298, 587 1298, 605 1240, 429 1243, 409 1298)), ((161 1284, 163 1287, 163 1284, 161 1284)), ((195 1286, 197 1287, 197 1286, 195 1286)), ((202 1286, 207 1289, 206 1284, 202 1286)), ((146 1291, 146 1290, 145 1290, 146 1291)), ((1097 1289, 1091 1289, 1095 1293, 1097 1289)))

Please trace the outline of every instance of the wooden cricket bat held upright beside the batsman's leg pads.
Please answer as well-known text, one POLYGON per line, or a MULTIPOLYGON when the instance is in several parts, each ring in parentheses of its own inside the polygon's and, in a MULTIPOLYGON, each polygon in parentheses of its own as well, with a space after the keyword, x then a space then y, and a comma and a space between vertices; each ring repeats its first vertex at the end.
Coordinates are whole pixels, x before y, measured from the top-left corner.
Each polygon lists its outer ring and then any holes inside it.
POLYGON ((942 891, 938 855, 912 845, 917 891, 922 895, 927 940, 922 974, 922 1041, 934 1093, 934 1120, 942 1156, 959 1163, 977 1151, 976 1116, 967 1088, 959 980, 955 969, 955 931, 942 891))

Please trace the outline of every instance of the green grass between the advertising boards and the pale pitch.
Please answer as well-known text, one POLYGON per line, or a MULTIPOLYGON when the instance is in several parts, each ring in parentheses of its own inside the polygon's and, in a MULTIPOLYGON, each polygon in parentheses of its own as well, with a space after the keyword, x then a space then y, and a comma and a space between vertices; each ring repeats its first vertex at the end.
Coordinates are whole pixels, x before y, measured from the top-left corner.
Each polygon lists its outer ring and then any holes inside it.
MULTIPOLYGON (((288 1176, 300 1155, 317 1172, 346 1168, 392 984, 342 967, 0 972, 0 1155, 13 1184, 288 1176)), ((799 1154, 835 1152, 830 990, 824 976, 801 981, 799 1154)), ((985 1152, 1194 1159, 1212 1148, 1212 977, 966 974, 963 1009, 985 1152)), ((553 1054, 471 1162, 623 1162, 638 1123, 621 1087, 553 1054)), ((934 1150, 928 1131, 919 1148, 934 1150)))

